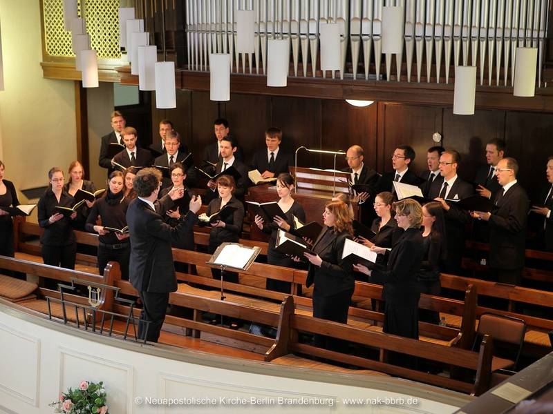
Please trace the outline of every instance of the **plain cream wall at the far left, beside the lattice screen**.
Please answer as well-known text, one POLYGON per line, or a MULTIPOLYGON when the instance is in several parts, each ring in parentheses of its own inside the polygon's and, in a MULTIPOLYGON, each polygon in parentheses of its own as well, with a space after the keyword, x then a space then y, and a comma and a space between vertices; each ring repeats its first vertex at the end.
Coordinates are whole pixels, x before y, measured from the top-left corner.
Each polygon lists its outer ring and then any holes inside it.
POLYGON ((74 84, 42 77, 38 0, 0 0, 0 27, 5 86, 0 154, 6 179, 17 189, 44 186, 48 169, 66 170, 77 157, 74 84))

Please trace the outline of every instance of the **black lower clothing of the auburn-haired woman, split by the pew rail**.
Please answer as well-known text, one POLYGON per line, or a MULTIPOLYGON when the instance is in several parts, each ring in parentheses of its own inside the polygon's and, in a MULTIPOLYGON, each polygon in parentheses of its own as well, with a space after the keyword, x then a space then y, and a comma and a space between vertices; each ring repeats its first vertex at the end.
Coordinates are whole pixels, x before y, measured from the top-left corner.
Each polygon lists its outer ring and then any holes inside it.
MULTIPOLYGON (((313 291, 313 317, 327 319, 329 321, 348 322, 348 310, 350 308, 353 288, 342 290, 330 296, 317 295, 317 285, 313 291)), ((330 338, 325 335, 315 335, 315 346, 332 351, 345 351, 347 343, 341 339, 330 338)))

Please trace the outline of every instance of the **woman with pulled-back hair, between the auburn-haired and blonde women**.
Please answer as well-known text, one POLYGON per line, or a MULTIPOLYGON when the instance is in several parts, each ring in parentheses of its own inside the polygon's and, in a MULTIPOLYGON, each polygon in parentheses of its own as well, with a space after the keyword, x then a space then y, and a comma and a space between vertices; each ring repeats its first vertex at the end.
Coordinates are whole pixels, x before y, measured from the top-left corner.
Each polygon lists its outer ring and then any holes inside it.
POLYGON ((378 193, 374 202, 375 213, 378 216, 373 220, 371 230, 375 233, 371 240, 359 237, 362 244, 373 248, 378 253, 376 264, 383 269, 386 268, 388 261, 388 252, 400 239, 403 229, 397 226, 397 221, 392 217, 393 210, 393 195, 388 191, 378 193))

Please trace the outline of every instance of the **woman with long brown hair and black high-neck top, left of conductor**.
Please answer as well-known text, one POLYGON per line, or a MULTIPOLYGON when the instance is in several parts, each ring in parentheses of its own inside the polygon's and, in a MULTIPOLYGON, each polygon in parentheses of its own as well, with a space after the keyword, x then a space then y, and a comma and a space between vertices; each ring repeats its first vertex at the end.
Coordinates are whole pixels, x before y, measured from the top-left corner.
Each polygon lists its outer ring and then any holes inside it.
POLYGON ((121 278, 129 280, 129 256, 131 244, 129 233, 118 233, 106 230, 106 227, 122 229, 126 227, 126 209, 129 200, 124 197, 123 173, 113 171, 109 175, 108 190, 104 196, 97 199, 91 208, 91 213, 86 220, 86 231, 96 232, 100 244, 98 245, 98 270, 104 275, 104 269, 111 260, 119 262, 121 278), (100 216, 102 225, 96 224, 100 216))

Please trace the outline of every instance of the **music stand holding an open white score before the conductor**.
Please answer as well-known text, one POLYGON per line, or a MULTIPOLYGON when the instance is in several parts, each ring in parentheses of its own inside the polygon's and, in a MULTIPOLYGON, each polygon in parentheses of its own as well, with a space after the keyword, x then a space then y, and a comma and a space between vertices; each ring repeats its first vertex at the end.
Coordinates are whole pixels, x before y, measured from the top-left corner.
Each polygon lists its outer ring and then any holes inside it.
POLYGON ((207 266, 221 269, 221 300, 225 300, 223 288, 223 274, 227 268, 233 270, 245 271, 252 266, 257 255, 261 252, 261 247, 247 247, 240 243, 222 243, 215 250, 212 257, 205 262, 207 266))

